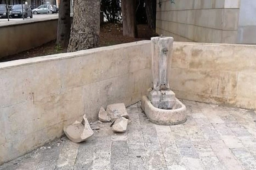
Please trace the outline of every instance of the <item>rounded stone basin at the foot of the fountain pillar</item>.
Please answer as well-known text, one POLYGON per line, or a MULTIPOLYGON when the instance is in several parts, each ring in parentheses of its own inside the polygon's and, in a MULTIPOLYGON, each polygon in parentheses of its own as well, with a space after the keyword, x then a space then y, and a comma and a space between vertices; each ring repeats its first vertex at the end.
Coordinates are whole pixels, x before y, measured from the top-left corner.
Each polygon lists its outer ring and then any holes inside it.
POLYGON ((158 125, 178 125, 186 122, 186 106, 175 98, 173 109, 159 109, 154 107, 147 96, 142 96, 141 108, 148 119, 158 125))

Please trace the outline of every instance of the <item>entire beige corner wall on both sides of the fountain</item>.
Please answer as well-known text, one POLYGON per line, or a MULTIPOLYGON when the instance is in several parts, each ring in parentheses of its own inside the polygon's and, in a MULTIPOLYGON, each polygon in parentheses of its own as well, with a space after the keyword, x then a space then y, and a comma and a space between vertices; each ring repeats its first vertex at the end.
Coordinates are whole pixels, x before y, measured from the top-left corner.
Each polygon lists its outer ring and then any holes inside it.
MULTIPOLYGON (((0 63, 0 164, 63 134, 100 106, 138 102, 151 86, 150 41, 0 63)), ((256 110, 256 46, 175 42, 181 99, 256 110)))

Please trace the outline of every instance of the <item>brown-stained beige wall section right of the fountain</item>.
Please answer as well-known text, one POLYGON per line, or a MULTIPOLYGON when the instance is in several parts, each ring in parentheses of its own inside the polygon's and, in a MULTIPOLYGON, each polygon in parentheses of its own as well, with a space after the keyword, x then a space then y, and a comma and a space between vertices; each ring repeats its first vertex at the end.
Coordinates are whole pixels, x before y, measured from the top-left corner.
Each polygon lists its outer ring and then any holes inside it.
POLYGON ((256 46, 177 42, 170 80, 178 98, 256 110, 256 46))

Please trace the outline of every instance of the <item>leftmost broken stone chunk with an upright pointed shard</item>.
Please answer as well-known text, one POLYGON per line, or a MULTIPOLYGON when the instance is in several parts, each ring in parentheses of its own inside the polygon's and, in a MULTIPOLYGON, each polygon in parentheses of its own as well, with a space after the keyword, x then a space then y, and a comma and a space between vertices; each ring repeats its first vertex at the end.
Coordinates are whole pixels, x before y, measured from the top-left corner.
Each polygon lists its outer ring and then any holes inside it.
POLYGON ((75 121, 72 125, 64 127, 63 130, 67 137, 75 143, 83 142, 93 135, 93 130, 85 115, 82 122, 75 121))

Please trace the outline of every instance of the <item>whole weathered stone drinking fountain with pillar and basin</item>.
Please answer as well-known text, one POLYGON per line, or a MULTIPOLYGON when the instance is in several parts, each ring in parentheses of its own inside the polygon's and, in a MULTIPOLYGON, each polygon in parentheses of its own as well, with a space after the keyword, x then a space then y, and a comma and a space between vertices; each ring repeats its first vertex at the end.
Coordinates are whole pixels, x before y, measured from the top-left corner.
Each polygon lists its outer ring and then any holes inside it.
POLYGON ((172 37, 151 38, 153 87, 142 97, 141 107, 149 120, 159 125, 177 125, 186 121, 186 106, 170 90, 172 37))

